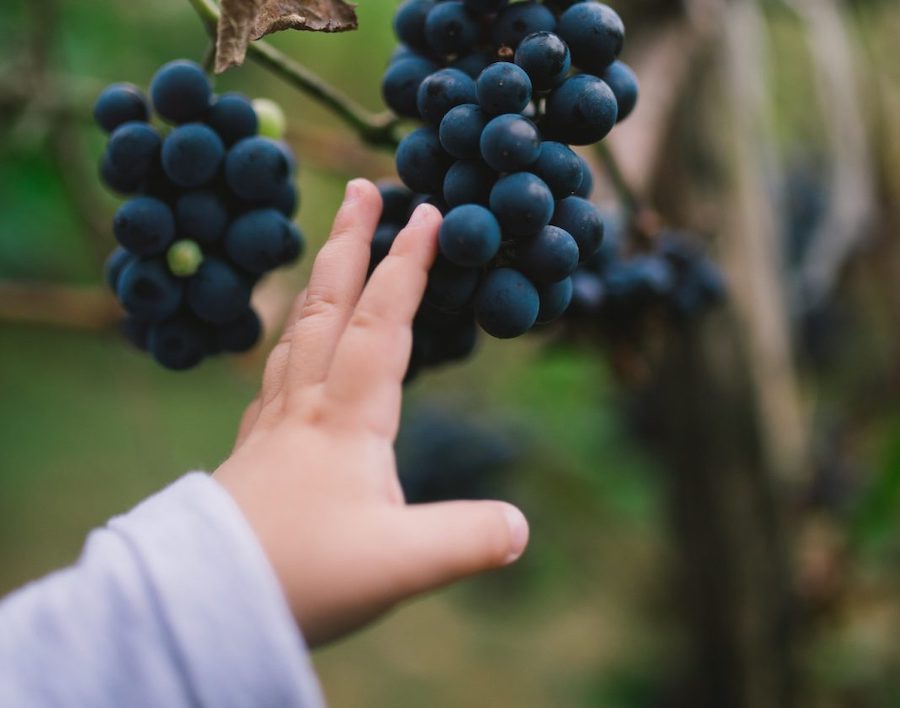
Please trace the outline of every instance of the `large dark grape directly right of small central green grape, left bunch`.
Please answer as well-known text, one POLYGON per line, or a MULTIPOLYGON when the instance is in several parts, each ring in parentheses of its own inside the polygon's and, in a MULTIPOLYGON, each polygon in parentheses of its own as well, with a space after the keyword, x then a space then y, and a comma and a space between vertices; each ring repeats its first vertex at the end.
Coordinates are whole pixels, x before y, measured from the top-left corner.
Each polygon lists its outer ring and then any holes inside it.
POLYGON ((293 260, 291 222, 276 209, 255 209, 237 217, 225 234, 225 252, 249 273, 262 275, 293 260))

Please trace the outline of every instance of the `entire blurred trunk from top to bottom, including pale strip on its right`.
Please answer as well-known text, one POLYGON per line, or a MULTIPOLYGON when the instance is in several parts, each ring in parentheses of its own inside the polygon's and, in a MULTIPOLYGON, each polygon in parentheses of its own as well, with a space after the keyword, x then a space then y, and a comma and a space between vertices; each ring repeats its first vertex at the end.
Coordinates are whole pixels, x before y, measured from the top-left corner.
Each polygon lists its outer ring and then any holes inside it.
POLYGON ((670 476, 687 630, 673 703, 787 708, 798 693, 799 613, 781 505, 806 483, 808 421, 773 203, 765 27, 754 0, 689 4, 702 18, 699 48, 688 71, 668 74, 685 79, 668 139, 654 138, 666 152, 656 168, 628 168, 675 223, 717 233, 730 291, 726 313, 671 338, 637 413, 670 476))

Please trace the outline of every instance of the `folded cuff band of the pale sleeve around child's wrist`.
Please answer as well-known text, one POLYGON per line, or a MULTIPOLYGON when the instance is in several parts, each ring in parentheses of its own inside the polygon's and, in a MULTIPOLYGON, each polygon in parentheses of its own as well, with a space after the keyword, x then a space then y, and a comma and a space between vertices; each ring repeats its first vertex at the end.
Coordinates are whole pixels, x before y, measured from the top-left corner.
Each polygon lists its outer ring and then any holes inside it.
POLYGON ((197 703, 325 705, 262 546, 209 475, 182 477, 109 529, 133 549, 197 703))

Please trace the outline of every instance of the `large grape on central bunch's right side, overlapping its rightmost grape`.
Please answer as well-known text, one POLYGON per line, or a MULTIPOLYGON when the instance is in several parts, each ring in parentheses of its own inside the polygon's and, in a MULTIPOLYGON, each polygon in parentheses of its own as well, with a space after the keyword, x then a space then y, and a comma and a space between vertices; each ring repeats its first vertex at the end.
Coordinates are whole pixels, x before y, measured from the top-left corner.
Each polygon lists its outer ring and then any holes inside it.
POLYGON ((548 133, 570 145, 590 145, 609 134, 618 110, 604 81, 590 74, 570 76, 547 99, 548 133))

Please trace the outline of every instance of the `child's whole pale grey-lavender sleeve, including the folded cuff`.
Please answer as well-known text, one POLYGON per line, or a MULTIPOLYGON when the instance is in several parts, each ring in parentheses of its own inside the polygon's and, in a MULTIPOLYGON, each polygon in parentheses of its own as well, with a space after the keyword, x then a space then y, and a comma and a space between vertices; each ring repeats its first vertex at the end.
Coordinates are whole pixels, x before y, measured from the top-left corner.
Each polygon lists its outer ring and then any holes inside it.
POLYGON ((189 474, 0 601, 0 706, 324 706, 229 494, 189 474))

